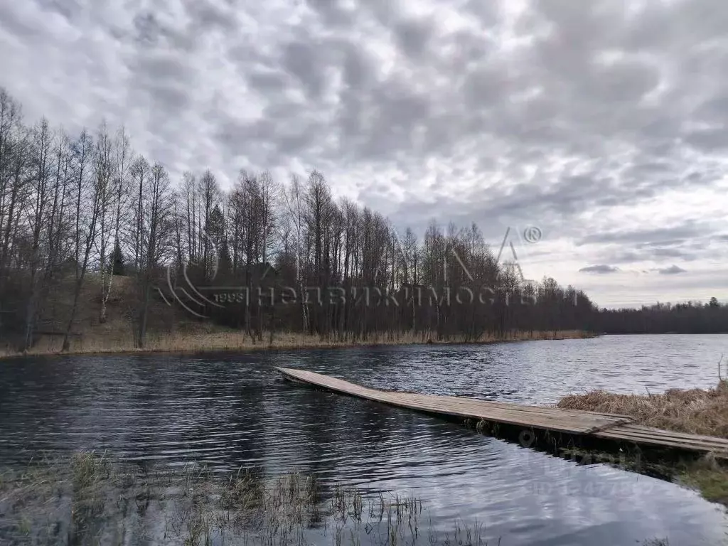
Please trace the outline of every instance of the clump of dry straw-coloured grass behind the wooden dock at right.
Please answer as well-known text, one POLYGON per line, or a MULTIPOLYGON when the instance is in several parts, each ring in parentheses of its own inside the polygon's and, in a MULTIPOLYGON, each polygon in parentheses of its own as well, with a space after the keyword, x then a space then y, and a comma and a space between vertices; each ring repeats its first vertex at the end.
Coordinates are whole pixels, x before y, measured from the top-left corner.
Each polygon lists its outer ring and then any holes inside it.
POLYGON ((596 390, 562 398, 559 408, 632 417, 637 424, 728 438, 728 382, 714 389, 670 389, 660 395, 616 395, 596 390))

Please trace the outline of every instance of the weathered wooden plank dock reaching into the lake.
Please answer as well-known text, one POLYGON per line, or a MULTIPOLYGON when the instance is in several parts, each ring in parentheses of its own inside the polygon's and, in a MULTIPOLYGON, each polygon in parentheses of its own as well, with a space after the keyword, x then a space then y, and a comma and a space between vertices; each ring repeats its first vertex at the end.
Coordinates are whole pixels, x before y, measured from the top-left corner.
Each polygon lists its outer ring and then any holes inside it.
POLYGON ((299 381, 343 395, 409 408, 427 414, 471 419, 521 427, 525 430, 561 432, 601 440, 632 443, 652 448, 670 448, 698 453, 712 452, 728 459, 728 440, 671 432, 634 424, 629 416, 598 414, 536 405, 490 402, 475 398, 422 395, 411 392, 369 389, 312 371, 276 368, 286 379, 299 381))

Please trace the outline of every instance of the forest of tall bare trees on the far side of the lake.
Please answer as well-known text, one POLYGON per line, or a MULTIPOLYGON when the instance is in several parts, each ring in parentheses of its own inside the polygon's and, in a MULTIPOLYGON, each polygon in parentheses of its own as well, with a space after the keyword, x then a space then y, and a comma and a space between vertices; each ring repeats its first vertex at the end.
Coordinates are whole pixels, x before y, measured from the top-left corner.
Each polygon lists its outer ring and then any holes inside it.
POLYGON ((150 309, 263 339, 295 331, 365 340, 427 332, 728 331, 728 308, 600 311, 585 293, 550 278, 523 281, 477 226, 432 223, 418 237, 384 216, 334 199, 316 170, 281 183, 242 170, 229 190, 210 170, 172 183, 164 165, 132 151, 106 124, 69 135, 46 119, 25 124, 0 89, 0 341, 33 347, 52 328, 68 336, 79 307, 104 323, 115 279, 143 347, 150 309), (84 287, 98 286, 92 302, 84 287), (63 291, 68 309, 52 304, 63 291), (179 315, 175 315, 179 316, 179 315))

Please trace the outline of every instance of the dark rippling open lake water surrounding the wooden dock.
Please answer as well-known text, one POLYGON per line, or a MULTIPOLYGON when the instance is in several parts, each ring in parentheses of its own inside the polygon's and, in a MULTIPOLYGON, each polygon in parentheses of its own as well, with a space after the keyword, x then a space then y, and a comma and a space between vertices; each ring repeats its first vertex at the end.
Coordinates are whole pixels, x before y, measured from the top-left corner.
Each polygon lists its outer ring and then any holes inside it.
MULTIPOLYGON (((490 346, 0 362, 0 464, 82 448, 220 472, 316 472, 423 500, 435 527, 510 545, 724 543, 724 510, 654 478, 573 462, 456 424, 282 381, 274 365, 371 387, 549 404, 585 389, 712 387, 728 336, 605 336, 490 346)), ((1 541, 0 541, 1 542, 1 541)), ((331 538, 326 539, 331 543, 331 538)))

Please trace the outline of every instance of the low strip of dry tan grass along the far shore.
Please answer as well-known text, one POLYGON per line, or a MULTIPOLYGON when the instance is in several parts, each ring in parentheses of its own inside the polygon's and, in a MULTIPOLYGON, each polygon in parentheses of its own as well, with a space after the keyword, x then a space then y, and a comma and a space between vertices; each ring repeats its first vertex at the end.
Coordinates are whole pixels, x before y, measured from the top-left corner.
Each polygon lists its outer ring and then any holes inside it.
POLYGON ((213 352, 249 352, 256 350, 294 350, 294 349, 344 349, 348 347, 380 347, 405 345, 453 345, 453 344, 494 344, 512 341, 545 341, 563 339, 587 339, 596 337, 596 333, 586 331, 513 331, 505 335, 486 333, 478 339, 467 336, 448 336, 438 339, 436 333, 376 333, 364 338, 352 333, 345 333, 344 339, 338 336, 322 337, 301 333, 264 332, 256 339, 245 331, 207 331, 207 332, 175 332, 153 333, 146 341, 145 347, 134 345, 131 335, 119 335, 120 331, 129 328, 106 328, 108 335, 92 333, 76 336, 71 342, 71 349, 61 352, 62 336, 42 336, 36 345, 25 352, 13 351, 9 347, 0 349, 0 359, 23 356, 52 355, 143 355, 154 353, 167 354, 202 354, 213 352), (114 331, 111 333, 111 331, 114 331))

